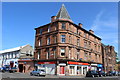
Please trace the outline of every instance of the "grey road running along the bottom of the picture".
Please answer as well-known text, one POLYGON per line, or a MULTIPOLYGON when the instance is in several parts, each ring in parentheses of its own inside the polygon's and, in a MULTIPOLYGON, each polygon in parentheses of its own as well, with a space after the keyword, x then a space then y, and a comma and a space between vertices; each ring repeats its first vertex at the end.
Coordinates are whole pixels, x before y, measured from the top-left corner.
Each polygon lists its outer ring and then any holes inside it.
POLYGON ((2 80, 120 80, 120 76, 85 78, 84 76, 30 76, 25 73, 0 73, 2 80))

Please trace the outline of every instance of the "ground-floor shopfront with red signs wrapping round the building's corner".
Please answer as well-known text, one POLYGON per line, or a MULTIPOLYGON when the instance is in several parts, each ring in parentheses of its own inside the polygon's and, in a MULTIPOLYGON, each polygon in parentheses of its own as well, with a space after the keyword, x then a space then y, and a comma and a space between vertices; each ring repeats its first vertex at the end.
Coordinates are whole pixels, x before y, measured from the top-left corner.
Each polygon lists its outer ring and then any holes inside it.
POLYGON ((35 68, 45 68, 47 75, 86 75, 90 64, 75 61, 35 61, 35 68))

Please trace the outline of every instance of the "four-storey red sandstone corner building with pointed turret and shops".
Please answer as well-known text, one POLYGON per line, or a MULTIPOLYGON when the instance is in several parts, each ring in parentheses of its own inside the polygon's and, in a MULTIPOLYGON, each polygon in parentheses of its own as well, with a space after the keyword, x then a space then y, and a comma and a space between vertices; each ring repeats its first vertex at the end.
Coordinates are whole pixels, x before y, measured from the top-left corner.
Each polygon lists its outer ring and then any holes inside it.
POLYGON ((64 5, 35 30, 35 66, 45 67, 46 74, 85 75, 88 69, 101 69, 101 38, 75 24, 64 5))

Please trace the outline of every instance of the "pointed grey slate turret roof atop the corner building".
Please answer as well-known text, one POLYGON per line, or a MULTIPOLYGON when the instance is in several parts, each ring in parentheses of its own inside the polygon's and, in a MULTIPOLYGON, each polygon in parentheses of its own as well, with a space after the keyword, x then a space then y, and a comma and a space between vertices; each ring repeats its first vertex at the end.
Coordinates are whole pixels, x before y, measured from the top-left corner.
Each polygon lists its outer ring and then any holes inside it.
POLYGON ((56 16, 56 19, 69 19, 70 20, 70 16, 69 16, 64 4, 62 4, 62 7, 60 8, 60 10, 56 16))

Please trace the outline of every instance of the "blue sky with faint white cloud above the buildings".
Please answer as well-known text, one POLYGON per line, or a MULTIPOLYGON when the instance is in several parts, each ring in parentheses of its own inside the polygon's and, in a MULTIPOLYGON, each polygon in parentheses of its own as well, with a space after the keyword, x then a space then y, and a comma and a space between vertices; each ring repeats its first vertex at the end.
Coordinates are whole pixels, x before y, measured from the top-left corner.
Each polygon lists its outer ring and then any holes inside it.
POLYGON ((26 44, 34 48, 34 28, 50 23, 62 4, 75 24, 94 30, 102 43, 118 52, 117 2, 3 2, 2 50, 26 44))

